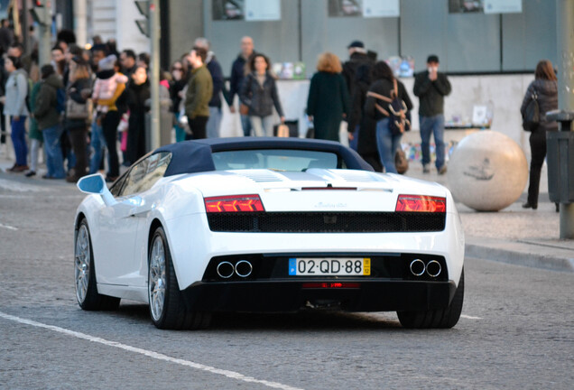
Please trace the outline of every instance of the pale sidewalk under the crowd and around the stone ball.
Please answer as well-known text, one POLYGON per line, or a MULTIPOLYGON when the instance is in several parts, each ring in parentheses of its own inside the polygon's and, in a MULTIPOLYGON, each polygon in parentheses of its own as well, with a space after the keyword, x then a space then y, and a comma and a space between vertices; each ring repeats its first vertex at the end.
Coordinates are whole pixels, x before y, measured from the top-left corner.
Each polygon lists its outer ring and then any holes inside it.
MULTIPOLYGON (((2 152, 2 151, 0 151, 2 152)), ((6 153, 0 153, 0 177, 6 179, 5 170, 14 160, 8 160, 6 153)), ((42 179, 45 168, 32 183, 42 179)), ((449 173, 439 175, 432 169, 422 173, 421 163, 411 162, 406 176, 426 181, 437 181, 449 187, 449 173)), ((9 177, 9 176, 8 176, 9 177)), ((26 179, 15 175, 18 181, 26 179), (22 179, 20 179, 22 178, 22 179)), ((68 185, 65 181, 50 181, 51 184, 68 185)), ((574 240, 560 240, 560 214, 554 203, 548 199, 548 178, 546 166, 542 168, 542 178, 538 209, 523 209, 526 190, 514 204, 498 212, 477 212, 457 202, 457 209, 465 230, 466 256, 499 261, 514 265, 526 265, 562 272, 574 272, 574 240)))

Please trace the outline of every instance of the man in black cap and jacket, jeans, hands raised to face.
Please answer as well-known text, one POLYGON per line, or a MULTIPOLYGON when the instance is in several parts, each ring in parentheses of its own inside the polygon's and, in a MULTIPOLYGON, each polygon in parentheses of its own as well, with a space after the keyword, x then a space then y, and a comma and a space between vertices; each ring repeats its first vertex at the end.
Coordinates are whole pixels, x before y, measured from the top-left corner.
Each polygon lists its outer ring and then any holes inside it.
POLYGON ((444 145, 444 97, 450 93, 450 82, 446 74, 439 72, 439 57, 429 56, 427 70, 417 73, 413 89, 414 95, 420 100, 422 172, 430 172, 430 135, 433 135, 437 153, 435 165, 439 174, 444 174, 447 172, 444 145))

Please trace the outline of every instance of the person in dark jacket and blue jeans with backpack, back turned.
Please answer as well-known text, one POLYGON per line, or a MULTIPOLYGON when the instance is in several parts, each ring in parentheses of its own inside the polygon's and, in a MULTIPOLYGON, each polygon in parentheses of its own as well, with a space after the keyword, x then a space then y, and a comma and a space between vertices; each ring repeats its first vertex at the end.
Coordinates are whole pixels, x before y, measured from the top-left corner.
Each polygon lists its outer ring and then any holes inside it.
POLYGON ((42 66, 41 74, 42 86, 34 102, 33 116, 44 138, 48 172, 42 178, 64 179, 66 174, 60 144, 63 130, 58 112, 58 89, 64 88, 64 85, 51 65, 42 66))

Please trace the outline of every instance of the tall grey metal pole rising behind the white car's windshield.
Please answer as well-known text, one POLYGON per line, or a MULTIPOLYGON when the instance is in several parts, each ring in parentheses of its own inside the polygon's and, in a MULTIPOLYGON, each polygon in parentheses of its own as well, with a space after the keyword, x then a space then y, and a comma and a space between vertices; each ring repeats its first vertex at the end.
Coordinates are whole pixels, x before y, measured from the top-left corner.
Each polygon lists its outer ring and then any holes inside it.
POLYGON ((160 147, 160 1, 150 0, 150 42, 151 42, 151 91, 152 91, 152 144, 151 149, 160 147))

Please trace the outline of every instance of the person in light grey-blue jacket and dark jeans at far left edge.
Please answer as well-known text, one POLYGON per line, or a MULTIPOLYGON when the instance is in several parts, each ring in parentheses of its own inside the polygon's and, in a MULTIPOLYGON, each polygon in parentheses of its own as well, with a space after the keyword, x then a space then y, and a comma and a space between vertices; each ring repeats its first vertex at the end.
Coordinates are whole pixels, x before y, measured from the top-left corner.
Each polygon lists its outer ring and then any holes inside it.
POLYGON ((10 116, 12 144, 16 162, 8 172, 24 172, 28 170, 28 146, 26 144, 26 117, 30 115, 26 107, 28 96, 28 75, 22 69, 22 63, 14 56, 4 60, 5 70, 10 74, 5 85, 4 115, 10 116))

